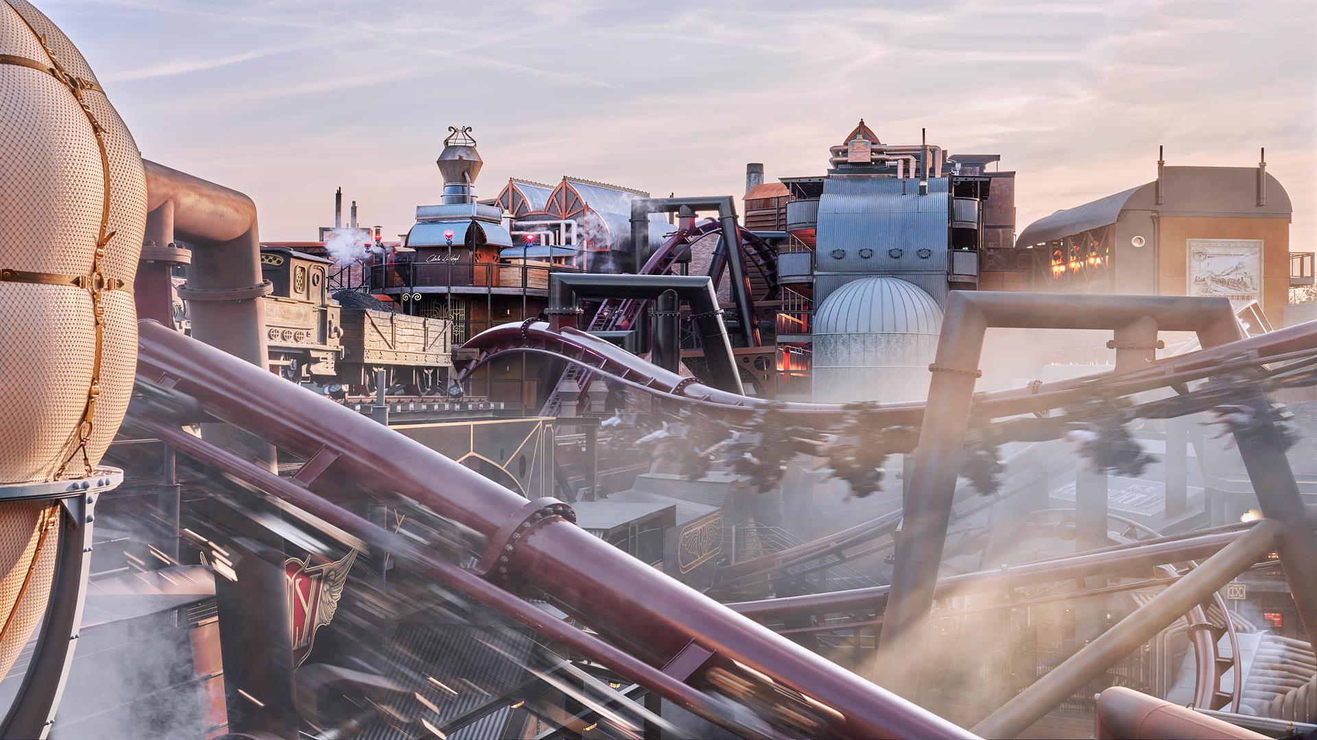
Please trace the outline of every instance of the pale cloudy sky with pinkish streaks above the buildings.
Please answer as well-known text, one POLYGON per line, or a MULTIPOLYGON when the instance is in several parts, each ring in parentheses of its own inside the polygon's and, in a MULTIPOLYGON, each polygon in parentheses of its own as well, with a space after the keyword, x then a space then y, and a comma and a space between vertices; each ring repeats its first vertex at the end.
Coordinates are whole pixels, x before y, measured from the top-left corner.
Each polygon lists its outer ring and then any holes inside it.
POLYGON ((818 175, 864 117, 893 144, 1000 153, 1023 229, 1171 165, 1268 170, 1317 249, 1317 3, 36 0, 146 157, 242 190, 266 240, 333 191, 406 230, 446 126, 493 198, 564 174, 740 195, 818 175))

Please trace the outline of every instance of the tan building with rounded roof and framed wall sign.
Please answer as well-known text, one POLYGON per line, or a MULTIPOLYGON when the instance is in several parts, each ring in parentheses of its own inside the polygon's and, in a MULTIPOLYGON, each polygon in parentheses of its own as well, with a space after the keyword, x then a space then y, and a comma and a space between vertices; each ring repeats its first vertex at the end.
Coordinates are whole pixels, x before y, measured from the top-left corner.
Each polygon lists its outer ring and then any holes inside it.
POLYGON ((1292 215, 1264 157, 1255 167, 1159 157, 1156 179, 1039 219, 1018 245, 1038 253, 1033 290, 1225 296, 1256 302, 1280 327, 1289 287, 1312 280, 1310 257, 1289 253, 1292 215))

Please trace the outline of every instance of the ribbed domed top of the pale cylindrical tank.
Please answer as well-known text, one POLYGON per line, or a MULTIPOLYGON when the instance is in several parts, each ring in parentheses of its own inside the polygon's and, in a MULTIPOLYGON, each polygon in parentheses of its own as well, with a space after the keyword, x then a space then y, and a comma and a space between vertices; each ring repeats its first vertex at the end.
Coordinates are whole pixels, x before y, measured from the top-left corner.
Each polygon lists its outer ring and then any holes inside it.
POLYGON ((942 308, 918 286, 876 275, 852 280, 814 311, 819 334, 938 334, 942 308))

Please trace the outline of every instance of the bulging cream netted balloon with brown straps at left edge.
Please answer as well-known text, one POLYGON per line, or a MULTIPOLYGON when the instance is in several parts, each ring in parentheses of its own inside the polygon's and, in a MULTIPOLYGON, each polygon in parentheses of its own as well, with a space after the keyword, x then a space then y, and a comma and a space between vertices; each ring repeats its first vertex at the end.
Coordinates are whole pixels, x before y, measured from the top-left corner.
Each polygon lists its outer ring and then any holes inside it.
MULTIPOLYGON (((86 59, 0 0, 0 494, 87 477, 119 431, 145 219, 141 154, 86 59)), ((0 502, 0 677, 46 608, 58 514, 0 502)))

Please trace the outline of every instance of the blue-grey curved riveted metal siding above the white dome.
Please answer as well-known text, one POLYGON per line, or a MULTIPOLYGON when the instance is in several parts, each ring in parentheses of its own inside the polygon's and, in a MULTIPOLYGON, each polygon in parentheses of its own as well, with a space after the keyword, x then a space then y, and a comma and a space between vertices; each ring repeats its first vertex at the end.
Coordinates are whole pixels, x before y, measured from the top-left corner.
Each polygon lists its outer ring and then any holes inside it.
POLYGON ((919 195, 909 179, 828 178, 819 199, 815 270, 946 273, 948 183, 932 178, 928 194, 919 195), (921 249, 928 257, 919 257, 921 249))

